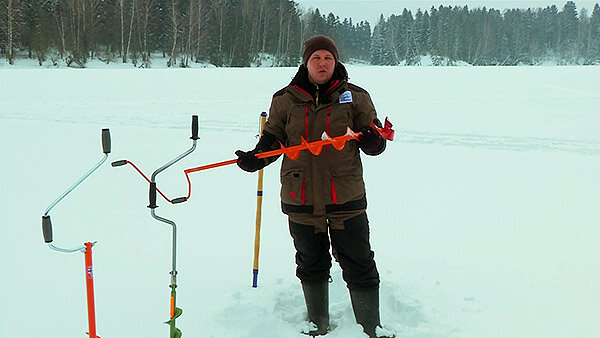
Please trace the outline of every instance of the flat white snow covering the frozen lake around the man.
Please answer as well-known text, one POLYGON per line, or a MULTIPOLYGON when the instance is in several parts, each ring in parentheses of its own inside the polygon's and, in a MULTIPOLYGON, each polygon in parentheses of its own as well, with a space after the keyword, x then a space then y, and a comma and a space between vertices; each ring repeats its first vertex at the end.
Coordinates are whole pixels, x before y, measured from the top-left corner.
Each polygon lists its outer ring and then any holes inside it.
MULTIPOLYGON (((256 142, 259 113, 291 68, 0 68, 0 337, 85 337, 84 257, 51 251, 41 215, 102 158, 184 196, 183 169, 256 142)), ((398 337, 598 337, 600 67, 349 67, 396 140, 364 157, 384 325, 398 337)), ((303 337, 305 309, 265 171, 259 287, 251 288, 256 175, 193 173, 178 224, 184 337, 303 337)), ((104 164, 50 213, 55 244, 94 247, 98 334, 166 337, 171 229, 147 184, 104 164)), ((365 337, 339 268, 328 337, 365 337)))

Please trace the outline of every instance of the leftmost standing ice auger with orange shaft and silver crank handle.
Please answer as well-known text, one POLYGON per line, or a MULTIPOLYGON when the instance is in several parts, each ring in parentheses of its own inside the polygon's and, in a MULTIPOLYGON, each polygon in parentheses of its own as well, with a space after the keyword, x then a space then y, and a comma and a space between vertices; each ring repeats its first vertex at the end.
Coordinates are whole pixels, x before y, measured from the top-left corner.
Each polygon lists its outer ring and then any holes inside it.
POLYGON ((87 305, 88 305, 88 326, 89 336, 96 338, 96 310, 94 306, 94 273, 92 265, 92 246, 96 242, 86 242, 84 245, 75 248, 63 248, 52 244, 52 221, 50 220, 50 210, 54 208, 63 198, 65 198, 71 191, 75 190, 85 179, 87 179, 96 169, 98 169, 108 158, 110 153, 110 131, 108 129, 102 129, 102 151, 104 157, 98 162, 90 171, 88 171, 83 177, 75 182, 67 191, 60 195, 44 212, 42 216, 42 232, 44 235, 44 242, 48 243, 48 246, 55 251, 63 253, 83 252, 85 254, 85 285, 87 293, 87 305))

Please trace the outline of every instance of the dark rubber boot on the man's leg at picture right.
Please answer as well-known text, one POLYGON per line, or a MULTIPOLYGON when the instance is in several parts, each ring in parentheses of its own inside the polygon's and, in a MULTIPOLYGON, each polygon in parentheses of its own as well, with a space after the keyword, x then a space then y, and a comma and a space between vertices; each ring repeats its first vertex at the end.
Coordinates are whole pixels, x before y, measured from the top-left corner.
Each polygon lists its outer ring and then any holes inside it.
POLYGON ((379 319, 379 289, 369 291, 350 290, 350 300, 352 301, 352 310, 354 310, 356 322, 362 325, 369 338, 384 338, 378 337, 375 333, 377 327, 381 326, 379 319))

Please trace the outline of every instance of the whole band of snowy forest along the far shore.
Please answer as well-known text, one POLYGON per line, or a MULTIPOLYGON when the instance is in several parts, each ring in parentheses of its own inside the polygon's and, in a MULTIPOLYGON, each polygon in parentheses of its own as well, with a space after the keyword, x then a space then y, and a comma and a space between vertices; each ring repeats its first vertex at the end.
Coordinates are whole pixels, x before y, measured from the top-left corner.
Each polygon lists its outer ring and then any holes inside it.
POLYGON ((302 42, 335 39, 342 62, 417 65, 600 64, 600 6, 432 7, 378 22, 307 11, 292 0, 0 0, 0 53, 39 64, 90 59, 150 67, 296 66, 302 42), (374 24, 374 26, 373 26, 374 24), (268 62, 267 62, 268 61, 268 62))

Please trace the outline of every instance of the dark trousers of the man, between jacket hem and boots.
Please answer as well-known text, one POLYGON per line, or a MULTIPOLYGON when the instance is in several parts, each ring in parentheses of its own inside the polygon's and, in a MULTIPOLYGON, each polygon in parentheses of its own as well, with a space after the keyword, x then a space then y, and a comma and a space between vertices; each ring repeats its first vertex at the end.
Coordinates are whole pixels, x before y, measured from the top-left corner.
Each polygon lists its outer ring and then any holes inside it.
POLYGON ((362 213, 344 221, 343 229, 329 228, 316 232, 313 225, 289 221, 290 234, 296 247, 296 276, 303 283, 329 279, 331 247, 336 252, 342 276, 350 290, 373 290, 379 287, 379 273, 369 243, 369 221, 362 213))

